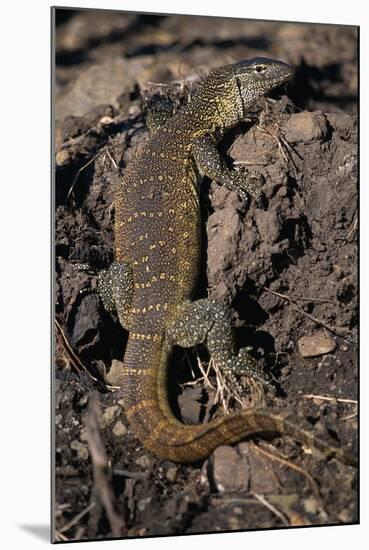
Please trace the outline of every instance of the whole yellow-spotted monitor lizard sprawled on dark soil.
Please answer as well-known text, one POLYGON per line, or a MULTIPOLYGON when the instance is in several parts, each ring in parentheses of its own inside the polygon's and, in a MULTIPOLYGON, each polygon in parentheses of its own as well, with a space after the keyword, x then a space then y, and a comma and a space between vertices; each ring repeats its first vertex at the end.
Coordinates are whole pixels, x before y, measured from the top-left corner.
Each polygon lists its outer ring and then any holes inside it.
POLYGON ((99 291, 104 306, 115 308, 129 331, 119 385, 130 427, 159 457, 197 461, 221 444, 271 431, 354 462, 287 409, 255 408, 185 425, 168 400, 167 367, 174 345, 205 342, 224 372, 242 372, 272 387, 249 348, 236 353, 229 308, 212 299, 191 299, 199 272, 201 176, 241 199, 261 197, 262 177, 229 169, 217 149, 217 136, 245 119, 258 98, 293 73, 286 63, 261 57, 212 71, 174 116, 168 116, 167 106, 153 110, 151 137, 119 183, 115 261, 101 272, 99 291))

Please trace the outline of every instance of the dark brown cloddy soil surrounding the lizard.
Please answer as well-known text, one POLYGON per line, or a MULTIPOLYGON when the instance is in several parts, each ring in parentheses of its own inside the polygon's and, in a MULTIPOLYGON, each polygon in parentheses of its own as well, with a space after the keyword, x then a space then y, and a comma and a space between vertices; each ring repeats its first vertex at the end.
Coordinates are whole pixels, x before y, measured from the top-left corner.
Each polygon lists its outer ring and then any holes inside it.
MULTIPOLYGON (((94 270, 113 260, 114 192, 146 139, 143 109, 163 90, 179 105, 214 66, 260 55, 292 63, 296 76, 220 144, 230 164, 264 175, 264 200, 244 204, 204 182, 199 295, 232 305, 240 347, 252 346, 277 381, 276 395, 262 400, 355 447, 357 30, 57 10, 56 540, 357 521, 354 468, 289 437, 220 447, 204 464, 160 460, 131 434, 109 385, 128 335, 103 309, 94 270), (94 481, 92 394, 118 533, 94 481)), ((207 421, 214 393, 183 386, 199 376, 196 356, 178 351, 175 362, 175 413, 207 421)))

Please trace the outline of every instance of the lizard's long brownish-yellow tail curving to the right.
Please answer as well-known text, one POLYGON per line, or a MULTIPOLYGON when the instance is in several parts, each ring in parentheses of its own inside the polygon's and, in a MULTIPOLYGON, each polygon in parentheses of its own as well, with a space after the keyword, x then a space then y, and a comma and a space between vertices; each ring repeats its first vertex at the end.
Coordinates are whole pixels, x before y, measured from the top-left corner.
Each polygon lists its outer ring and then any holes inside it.
POLYGON ((161 335, 130 333, 122 370, 121 392, 130 427, 154 454, 175 462, 194 462, 208 457, 219 445, 271 432, 290 435, 327 456, 356 464, 350 452, 317 437, 309 423, 285 409, 243 410, 207 424, 183 424, 168 402, 169 353, 161 335))

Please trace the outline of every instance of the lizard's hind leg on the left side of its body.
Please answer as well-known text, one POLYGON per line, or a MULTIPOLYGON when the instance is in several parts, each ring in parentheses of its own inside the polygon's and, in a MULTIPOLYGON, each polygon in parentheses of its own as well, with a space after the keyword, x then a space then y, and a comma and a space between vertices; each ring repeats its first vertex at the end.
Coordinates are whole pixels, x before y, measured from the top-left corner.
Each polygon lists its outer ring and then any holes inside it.
POLYGON ((105 309, 116 311, 119 322, 125 326, 133 296, 133 273, 129 263, 113 262, 98 275, 98 292, 105 309))

